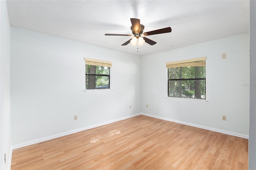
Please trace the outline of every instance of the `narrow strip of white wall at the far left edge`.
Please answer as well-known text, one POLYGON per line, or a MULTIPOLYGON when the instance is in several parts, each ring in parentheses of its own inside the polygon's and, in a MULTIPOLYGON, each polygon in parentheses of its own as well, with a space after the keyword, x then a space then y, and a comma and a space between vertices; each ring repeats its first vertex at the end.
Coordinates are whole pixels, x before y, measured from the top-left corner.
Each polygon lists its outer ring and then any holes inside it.
POLYGON ((10 23, 5 0, 0 0, 0 169, 10 168, 10 23), (6 154, 6 163, 4 162, 6 154))

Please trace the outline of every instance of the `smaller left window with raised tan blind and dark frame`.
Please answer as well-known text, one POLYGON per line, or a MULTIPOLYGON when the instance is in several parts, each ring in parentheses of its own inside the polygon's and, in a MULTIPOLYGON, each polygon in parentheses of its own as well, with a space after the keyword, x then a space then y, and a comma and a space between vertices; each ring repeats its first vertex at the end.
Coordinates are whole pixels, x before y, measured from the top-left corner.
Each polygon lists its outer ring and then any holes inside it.
POLYGON ((85 59, 85 89, 110 89, 110 61, 85 59))

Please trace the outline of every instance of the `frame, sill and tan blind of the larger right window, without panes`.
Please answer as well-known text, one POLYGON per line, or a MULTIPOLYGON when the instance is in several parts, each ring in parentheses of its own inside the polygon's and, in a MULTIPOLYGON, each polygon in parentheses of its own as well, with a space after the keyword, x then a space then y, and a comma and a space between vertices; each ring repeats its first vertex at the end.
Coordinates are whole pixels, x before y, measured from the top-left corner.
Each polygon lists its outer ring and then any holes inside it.
POLYGON ((193 100, 193 101, 207 101, 206 99, 206 57, 200 57, 200 58, 194 58, 194 59, 186 59, 181 61, 172 61, 166 63, 166 69, 167 69, 167 96, 168 99, 181 99, 181 100, 193 100), (191 66, 190 66, 191 65, 191 66), (169 71, 170 68, 179 68, 179 67, 202 67, 204 66, 204 77, 200 78, 177 78, 177 79, 169 79, 169 71), (179 97, 179 96, 169 96, 170 92, 170 81, 189 81, 189 80, 203 80, 204 81, 204 93, 205 98, 190 98, 190 97, 179 97))

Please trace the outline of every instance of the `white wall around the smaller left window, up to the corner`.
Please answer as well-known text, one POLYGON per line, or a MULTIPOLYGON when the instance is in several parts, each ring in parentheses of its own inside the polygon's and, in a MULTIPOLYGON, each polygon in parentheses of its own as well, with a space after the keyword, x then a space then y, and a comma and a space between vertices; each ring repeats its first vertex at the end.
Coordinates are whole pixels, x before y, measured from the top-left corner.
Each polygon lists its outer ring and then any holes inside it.
POLYGON ((12 145, 141 111, 139 56, 11 27, 11 65, 12 145), (84 57, 112 61, 113 91, 84 91, 84 57))

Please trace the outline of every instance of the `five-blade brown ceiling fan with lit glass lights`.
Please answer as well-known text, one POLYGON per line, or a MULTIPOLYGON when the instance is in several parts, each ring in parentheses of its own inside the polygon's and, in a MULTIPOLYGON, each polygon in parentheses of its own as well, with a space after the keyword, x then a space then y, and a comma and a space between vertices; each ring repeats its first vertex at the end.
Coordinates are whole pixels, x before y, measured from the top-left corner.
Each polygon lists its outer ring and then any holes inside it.
POLYGON ((150 35, 155 35, 155 34, 168 33, 168 32, 172 31, 172 29, 170 27, 167 27, 167 28, 162 28, 159 30, 150 31, 150 32, 144 32, 144 34, 142 34, 143 30, 144 30, 144 25, 140 24, 140 20, 137 18, 131 18, 130 20, 132 22, 132 26, 131 26, 132 35, 131 34, 105 34, 105 36, 134 36, 133 38, 131 38, 127 42, 123 43, 122 45, 127 45, 128 43, 131 43, 134 46, 136 46, 136 45, 140 46, 140 45, 143 45, 144 42, 146 42, 150 45, 154 45, 154 44, 156 44, 156 42, 154 42, 153 40, 150 40, 146 37, 142 37, 142 35, 150 36, 150 35))

